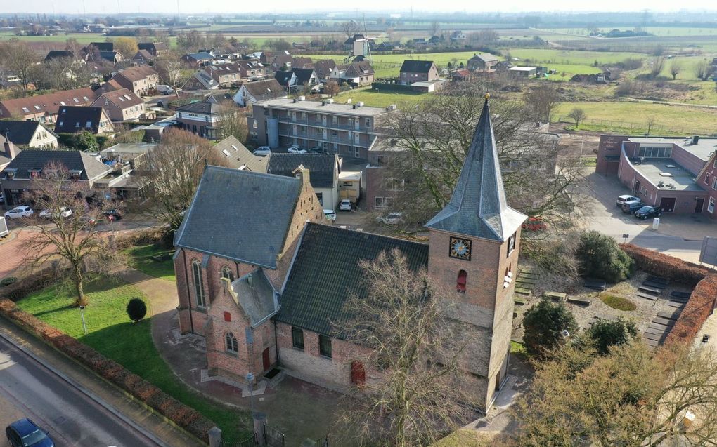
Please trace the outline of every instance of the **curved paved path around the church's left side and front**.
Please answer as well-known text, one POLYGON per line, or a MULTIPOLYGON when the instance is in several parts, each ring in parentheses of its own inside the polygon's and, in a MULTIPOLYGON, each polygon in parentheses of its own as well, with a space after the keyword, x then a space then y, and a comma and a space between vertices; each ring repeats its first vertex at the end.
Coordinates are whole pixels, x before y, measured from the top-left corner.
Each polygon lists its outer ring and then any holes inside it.
MULTIPOLYGON (((207 398, 250 410, 252 401, 249 397, 242 398, 241 388, 218 380, 201 381, 202 370, 206 370, 204 338, 179 335, 176 311, 179 298, 174 282, 137 270, 125 272, 123 280, 141 290, 150 300, 154 345, 174 374, 207 398)), ((253 406, 267 415, 270 426, 285 434, 287 446, 299 446, 306 438, 315 440, 327 433, 331 437, 340 397, 331 390, 285 377, 275 388, 267 387, 264 394, 254 396, 253 406)), ((336 438, 334 440, 336 443, 336 438)))

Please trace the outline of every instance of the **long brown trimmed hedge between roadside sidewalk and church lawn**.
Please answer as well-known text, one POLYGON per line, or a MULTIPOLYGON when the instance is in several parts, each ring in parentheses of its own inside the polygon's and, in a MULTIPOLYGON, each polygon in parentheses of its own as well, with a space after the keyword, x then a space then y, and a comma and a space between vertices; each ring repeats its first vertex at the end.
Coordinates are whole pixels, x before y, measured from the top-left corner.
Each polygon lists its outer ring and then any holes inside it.
POLYGON ((127 391, 139 401, 154 408, 162 416, 174 421, 177 426, 184 428, 196 438, 209 443, 207 433, 209 429, 217 426, 217 424, 203 416, 199 411, 177 401, 155 385, 152 385, 139 375, 131 373, 119 363, 106 358, 98 351, 90 348, 90 346, 85 345, 85 343, 17 308, 11 300, 0 298, 0 315, 14 320, 14 322, 57 348, 60 352, 74 358, 101 377, 127 391))

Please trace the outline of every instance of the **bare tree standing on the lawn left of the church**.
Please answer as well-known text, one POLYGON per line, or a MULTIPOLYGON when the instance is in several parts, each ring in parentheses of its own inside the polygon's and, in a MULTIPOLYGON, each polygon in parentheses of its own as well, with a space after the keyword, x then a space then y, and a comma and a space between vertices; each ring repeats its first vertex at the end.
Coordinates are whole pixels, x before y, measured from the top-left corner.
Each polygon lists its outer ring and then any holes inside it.
POLYGON ((34 269, 60 261, 75 286, 75 305, 87 305, 84 283, 92 265, 106 273, 122 264, 107 235, 95 229, 111 204, 104 193, 90 191, 87 182, 75 181, 75 174, 60 163, 46 164, 31 183, 24 200, 46 211, 32 218, 34 234, 24 242, 26 265, 34 269))

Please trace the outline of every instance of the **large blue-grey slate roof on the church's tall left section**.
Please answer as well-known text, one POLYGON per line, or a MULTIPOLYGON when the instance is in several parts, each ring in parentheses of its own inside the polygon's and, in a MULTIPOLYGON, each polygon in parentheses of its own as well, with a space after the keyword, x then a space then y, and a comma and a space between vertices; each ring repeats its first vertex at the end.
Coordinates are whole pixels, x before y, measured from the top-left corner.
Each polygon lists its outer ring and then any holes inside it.
POLYGON ((207 166, 174 245, 275 269, 300 192, 295 177, 207 166))

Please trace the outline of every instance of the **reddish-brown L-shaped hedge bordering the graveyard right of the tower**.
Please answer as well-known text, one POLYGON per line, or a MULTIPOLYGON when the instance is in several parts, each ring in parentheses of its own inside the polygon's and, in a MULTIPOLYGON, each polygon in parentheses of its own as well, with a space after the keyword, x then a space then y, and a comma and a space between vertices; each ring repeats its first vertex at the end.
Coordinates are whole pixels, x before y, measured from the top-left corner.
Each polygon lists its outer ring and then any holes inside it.
POLYGON ((707 267, 663 255, 655 250, 632 244, 622 244, 620 247, 635 260, 641 270, 686 283, 694 288, 673 330, 670 330, 665 340, 665 344, 690 343, 717 305, 717 273, 707 267))

